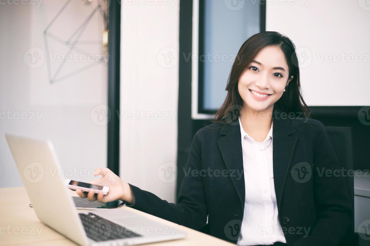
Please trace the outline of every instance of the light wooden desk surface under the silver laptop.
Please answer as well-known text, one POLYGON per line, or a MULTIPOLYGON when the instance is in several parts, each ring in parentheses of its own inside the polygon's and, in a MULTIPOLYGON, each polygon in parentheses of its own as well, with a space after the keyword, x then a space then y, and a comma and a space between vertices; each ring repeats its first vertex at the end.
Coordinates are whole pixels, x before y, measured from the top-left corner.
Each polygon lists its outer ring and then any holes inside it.
MULTIPOLYGON (((74 191, 70 192, 71 195, 77 196, 74 191)), ((29 204, 30 200, 24 187, 0 188, 0 245, 76 245, 71 240, 39 221, 29 204)), ((185 239, 146 245, 234 245, 133 208, 124 206, 118 209, 129 209, 166 225, 178 226, 180 230, 188 233, 185 239)))

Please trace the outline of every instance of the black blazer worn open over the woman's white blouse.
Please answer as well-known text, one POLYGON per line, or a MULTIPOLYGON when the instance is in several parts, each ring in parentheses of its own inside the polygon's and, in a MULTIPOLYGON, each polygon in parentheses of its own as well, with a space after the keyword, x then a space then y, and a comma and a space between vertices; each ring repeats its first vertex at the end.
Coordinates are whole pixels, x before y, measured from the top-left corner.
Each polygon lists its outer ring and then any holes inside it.
MULTIPOLYGON (((276 104, 273 112, 273 175, 287 245, 338 245, 353 211, 344 177, 326 175, 340 167, 324 125, 283 115, 276 104)), ((185 177, 178 204, 130 184, 129 207, 196 230, 208 215, 209 234, 236 243, 245 201, 240 139, 239 121, 200 129, 179 170, 185 177)))

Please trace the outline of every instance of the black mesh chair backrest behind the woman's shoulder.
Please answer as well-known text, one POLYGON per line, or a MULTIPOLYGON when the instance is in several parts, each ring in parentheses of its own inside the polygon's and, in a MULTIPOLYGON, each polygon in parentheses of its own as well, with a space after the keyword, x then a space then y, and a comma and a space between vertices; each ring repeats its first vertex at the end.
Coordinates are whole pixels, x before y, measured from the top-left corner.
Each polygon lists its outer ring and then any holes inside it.
MULTIPOLYGON (((334 152, 337 156, 340 167, 343 167, 349 174, 353 174, 353 150, 352 150, 352 128, 351 127, 325 127, 332 142, 334 152)), ((353 175, 346 175, 347 189, 354 211, 354 184, 353 175)), ((350 218, 350 226, 347 229, 340 245, 352 245, 354 242, 354 214, 350 218)))

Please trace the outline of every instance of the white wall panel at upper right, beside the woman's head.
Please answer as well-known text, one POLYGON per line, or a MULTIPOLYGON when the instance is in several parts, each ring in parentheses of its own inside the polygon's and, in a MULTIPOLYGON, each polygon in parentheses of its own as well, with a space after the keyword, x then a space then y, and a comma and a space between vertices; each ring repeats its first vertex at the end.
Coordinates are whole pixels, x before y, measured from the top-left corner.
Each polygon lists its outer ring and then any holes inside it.
POLYGON ((266 31, 286 34, 296 45, 309 106, 370 104, 366 0, 266 2, 266 31))

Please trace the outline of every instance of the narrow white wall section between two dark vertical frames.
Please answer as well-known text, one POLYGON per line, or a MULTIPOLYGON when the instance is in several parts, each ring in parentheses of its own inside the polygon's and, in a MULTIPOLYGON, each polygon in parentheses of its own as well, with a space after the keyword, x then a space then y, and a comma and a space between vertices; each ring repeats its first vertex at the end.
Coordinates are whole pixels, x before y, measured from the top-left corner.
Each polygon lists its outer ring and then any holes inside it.
POLYGON ((175 202, 179 1, 161 2, 121 6, 120 177, 175 202))

